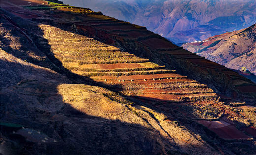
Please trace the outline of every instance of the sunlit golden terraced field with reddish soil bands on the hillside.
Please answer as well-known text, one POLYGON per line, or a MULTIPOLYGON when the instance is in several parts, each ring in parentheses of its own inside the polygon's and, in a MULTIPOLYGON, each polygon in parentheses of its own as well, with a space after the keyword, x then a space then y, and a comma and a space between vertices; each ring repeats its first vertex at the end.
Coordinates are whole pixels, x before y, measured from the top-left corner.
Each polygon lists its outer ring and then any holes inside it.
POLYGON ((54 56, 75 74, 88 76, 114 91, 136 98, 156 101, 217 101, 218 96, 207 85, 149 62, 132 52, 104 44, 86 36, 49 25, 40 25, 54 56), (58 32, 58 33, 53 33, 58 32))

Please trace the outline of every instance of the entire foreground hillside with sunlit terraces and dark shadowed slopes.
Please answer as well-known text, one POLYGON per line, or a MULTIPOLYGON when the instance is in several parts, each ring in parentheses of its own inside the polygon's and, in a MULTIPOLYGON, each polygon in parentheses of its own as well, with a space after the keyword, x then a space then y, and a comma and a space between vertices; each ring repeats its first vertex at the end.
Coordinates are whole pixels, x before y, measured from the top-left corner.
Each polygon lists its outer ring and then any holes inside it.
POLYGON ((3 154, 256 153, 256 85, 145 27, 1 1, 3 154))

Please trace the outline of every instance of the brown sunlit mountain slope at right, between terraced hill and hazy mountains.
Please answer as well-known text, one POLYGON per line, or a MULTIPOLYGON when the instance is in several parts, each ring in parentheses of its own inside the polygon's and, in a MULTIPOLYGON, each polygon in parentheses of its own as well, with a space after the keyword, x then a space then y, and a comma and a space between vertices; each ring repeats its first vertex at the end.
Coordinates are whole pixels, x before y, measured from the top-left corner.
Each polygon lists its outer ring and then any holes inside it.
POLYGON ((256 74, 256 24, 210 37, 205 42, 187 43, 183 47, 228 68, 240 70, 246 67, 256 74))

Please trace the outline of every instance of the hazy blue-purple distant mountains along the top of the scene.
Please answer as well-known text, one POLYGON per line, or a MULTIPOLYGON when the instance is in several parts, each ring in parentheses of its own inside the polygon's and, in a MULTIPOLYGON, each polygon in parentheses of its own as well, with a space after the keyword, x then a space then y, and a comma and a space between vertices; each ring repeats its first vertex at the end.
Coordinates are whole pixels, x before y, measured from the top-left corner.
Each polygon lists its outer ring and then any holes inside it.
POLYGON ((255 0, 67 0, 145 26, 174 43, 205 40, 256 23, 255 0))

